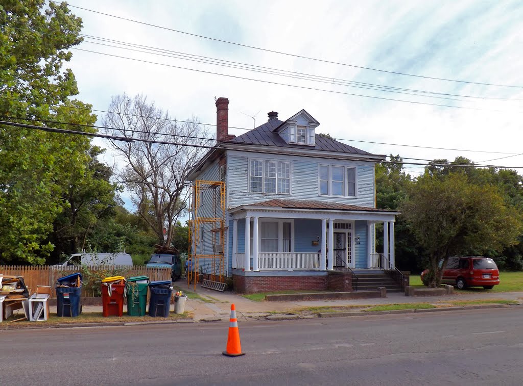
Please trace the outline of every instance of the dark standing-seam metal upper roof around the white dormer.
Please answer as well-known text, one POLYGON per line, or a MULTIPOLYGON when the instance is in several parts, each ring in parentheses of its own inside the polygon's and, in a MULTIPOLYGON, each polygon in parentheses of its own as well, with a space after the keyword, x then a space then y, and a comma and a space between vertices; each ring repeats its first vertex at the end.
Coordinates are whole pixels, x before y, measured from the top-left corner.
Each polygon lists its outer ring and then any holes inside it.
POLYGON ((315 136, 315 146, 305 145, 294 145, 288 144, 283 140, 278 133, 275 133, 276 127, 280 126, 285 122, 279 119, 271 119, 270 121, 253 128, 242 135, 238 135, 236 138, 227 141, 229 143, 240 143, 246 145, 263 145, 263 146, 278 146, 278 147, 289 147, 307 150, 322 150, 322 151, 336 151, 337 153, 349 153, 349 154, 361 154, 361 155, 373 155, 367 151, 357 149, 356 147, 346 145, 338 142, 335 139, 322 137, 319 134, 315 136))

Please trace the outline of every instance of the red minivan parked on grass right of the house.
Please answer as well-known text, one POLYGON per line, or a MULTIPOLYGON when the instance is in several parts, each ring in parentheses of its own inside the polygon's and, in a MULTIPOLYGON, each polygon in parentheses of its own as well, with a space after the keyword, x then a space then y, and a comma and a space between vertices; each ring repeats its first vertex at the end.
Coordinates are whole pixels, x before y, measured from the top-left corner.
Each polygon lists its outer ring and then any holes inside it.
MULTIPOLYGON (((439 266, 441 267, 442 264, 443 260, 439 262, 439 266)), ((427 273, 428 270, 422 272, 423 283, 425 283, 424 278, 427 273)), ((449 258, 441 283, 455 285, 458 289, 467 287, 492 289, 499 284, 499 271, 494 260, 483 256, 449 258)))

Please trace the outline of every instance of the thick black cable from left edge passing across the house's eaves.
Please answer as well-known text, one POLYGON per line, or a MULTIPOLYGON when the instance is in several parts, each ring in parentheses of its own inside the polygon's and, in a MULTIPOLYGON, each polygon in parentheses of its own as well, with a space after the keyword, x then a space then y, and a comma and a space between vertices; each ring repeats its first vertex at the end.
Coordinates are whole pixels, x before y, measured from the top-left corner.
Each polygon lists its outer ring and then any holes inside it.
MULTIPOLYGON (((206 146, 206 145, 195 145, 195 144, 182 144, 182 143, 175 143, 175 142, 167 142, 167 141, 154 141, 151 139, 143 139, 143 138, 129 138, 129 137, 121 137, 121 136, 114 136, 114 135, 104 135, 104 134, 93 134, 93 133, 86 133, 86 132, 80 132, 80 131, 73 131, 73 130, 63 130, 61 128, 54 128, 54 127, 47 127, 47 126, 36 126, 36 125, 26 125, 23 123, 15 123, 15 122, 7 122, 7 121, 0 121, 0 125, 6 125, 6 126, 16 126, 16 127, 23 127, 23 128, 31 128, 33 130, 42 130, 47 132, 53 132, 53 133, 60 133, 60 134, 73 134, 73 135, 85 135, 85 136, 92 136, 92 137, 101 137, 101 138, 108 138, 112 139, 113 141, 124 141, 124 142, 145 142, 145 143, 153 143, 153 144, 163 144, 163 145, 176 145, 176 146, 187 146, 187 147, 197 147, 197 148, 206 148, 206 149, 226 149, 226 147, 220 147, 220 146, 206 146)), ((225 143, 226 144, 226 143, 225 143)), ((244 149, 242 150, 245 153, 258 153, 258 154, 274 154, 270 151, 260 151, 260 150, 250 150, 250 149, 244 149)), ((293 153, 281 153, 282 155, 287 156, 295 156, 293 153)), ((311 158, 324 158, 323 156, 314 156, 311 155, 311 158)), ((332 157, 335 158, 335 157, 332 157)), ((403 165, 405 162, 401 161, 378 161, 380 163, 392 163, 392 164, 401 164, 403 165)), ((456 164, 446 164, 446 163, 408 163, 408 165, 423 165, 423 166, 445 166, 445 167, 472 167, 477 168, 476 165, 472 164, 465 164, 465 165, 456 165, 456 164)), ((488 165, 487 167, 490 168, 498 168, 498 169, 523 169, 523 166, 495 166, 495 165, 488 165)))

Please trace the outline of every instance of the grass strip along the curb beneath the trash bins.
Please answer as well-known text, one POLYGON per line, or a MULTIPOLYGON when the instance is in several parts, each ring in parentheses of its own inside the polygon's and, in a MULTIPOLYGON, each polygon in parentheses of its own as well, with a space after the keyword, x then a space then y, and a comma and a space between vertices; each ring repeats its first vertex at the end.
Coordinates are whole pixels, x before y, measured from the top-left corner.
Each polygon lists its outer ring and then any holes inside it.
POLYGON ((39 325, 45 325, 45 326, 55 326, 58 324, 71 324, 71 323, 107 323, 107 322, 154 322, 154 321, 164 321, 164 320, 176 320, 176 319, 187 319, 191 318, 191 314, 189 312, 184 312, 182 314, 176 314, 174 312, 169 313, 168 318, 161 318, 161 317, 150 317, 149 315, 145 315, 143 317, 131 317, 127 315, 126 313, 123 314, 122 317, 107 317, 104 318, 102 316, 101 312, 82 312, 79 314, 76 318, 70 318, 70 317, 58 317, 56 316, 55 312, 51 312, 49 315, 49 319, 46 322, 29 322, 29 321, 19 321, 19 322, 13 322, 9 323, 10 321, 14 321, 19 318, 23 318, 24 313, 17 313, 9 317, 9 319, 4 320, 3 323, 0 323, 0 330, 6 329, 6 328, 16 328, 16 327, 28 327, 28 326, 39 326, 39 325))

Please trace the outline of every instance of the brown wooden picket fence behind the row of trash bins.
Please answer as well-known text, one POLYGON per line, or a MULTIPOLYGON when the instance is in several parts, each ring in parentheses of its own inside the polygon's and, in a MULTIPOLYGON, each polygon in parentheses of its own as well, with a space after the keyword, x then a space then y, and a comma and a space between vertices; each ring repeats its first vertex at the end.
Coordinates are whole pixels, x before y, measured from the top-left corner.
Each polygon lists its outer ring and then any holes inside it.
POLYGON ((100 296, 99 283, 104 277, 133 277, 145 275, 151 282, 170 280, 170 268, 147 268, 145 265, 120 266, 77 266, 52 267, 49 265, 0 265, 0 274, 24 277, 24 282, 30 293, 36 292, 37 286, 51 286, 52 297, 55 297, 56 279, 80 272, 83 275, 82 296, 100 296))

